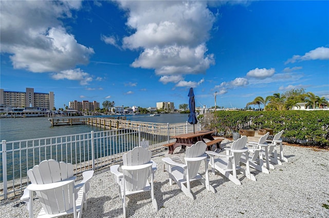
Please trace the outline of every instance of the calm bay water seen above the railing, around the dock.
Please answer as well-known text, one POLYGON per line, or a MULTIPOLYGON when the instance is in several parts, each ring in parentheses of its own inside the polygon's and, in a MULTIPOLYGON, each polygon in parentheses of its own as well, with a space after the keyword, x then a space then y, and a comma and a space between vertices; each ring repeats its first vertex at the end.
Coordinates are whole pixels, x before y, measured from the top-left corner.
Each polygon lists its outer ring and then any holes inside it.
MULTIPOLYGON (((127 120, 153 123, 181 123, 188 120, 188 114, 127 115, 127 120)), ((89 125, 51 127, 48 117, 1 118, 0 141, 28 140, 59 135, 79 134, 90 131, 103 131, 102 128, 89 125)))

